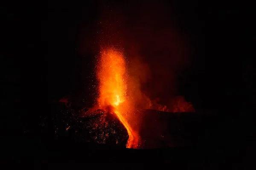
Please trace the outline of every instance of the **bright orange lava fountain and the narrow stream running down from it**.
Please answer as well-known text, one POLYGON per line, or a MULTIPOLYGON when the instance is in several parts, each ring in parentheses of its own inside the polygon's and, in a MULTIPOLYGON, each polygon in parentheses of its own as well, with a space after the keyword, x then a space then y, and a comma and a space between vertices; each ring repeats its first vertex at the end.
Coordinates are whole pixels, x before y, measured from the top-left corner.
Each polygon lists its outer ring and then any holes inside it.
POLYGON ((137 148, 140 137, 128 123, 132 107, 128 104, 128 74, 122 51, 116 48, 102 48, 96 72, 99 80, 99 108, 116 114, 129 135, 126 147, 137 148))

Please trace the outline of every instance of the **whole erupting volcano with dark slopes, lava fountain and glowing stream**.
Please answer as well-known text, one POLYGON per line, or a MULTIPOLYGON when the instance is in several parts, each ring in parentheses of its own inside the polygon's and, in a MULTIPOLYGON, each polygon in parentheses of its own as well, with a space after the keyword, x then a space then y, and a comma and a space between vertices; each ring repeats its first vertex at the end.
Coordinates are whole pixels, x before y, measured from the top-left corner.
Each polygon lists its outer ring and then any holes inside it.
MULTIPOLYGON (((134 71, 128 61, 122 48, 101 48, 94 72, 98 82, 96 105, 78 109, 79 105, 67 98, 59 100, 63 104, 58 105, 60 113, 48 120, 54 120, 56 139, 69 136, 68 139, 83 142, 135 149, 186 145, 182 121, 188 115, 196 116, 191 114, 192 104, 182 96, 170 96, 173 102, 168 106, 160 105, 160 100, 151 100, 135 78, 143 69, 138 67, 134 71)), ((42 120, 42 127, 46 120, 42 120)))

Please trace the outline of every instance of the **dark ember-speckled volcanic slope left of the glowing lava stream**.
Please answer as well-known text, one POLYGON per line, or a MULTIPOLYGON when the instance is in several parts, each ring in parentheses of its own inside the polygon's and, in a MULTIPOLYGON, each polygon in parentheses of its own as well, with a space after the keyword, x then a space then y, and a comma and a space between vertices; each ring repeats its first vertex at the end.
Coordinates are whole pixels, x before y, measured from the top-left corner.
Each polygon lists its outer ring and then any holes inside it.
MULTIPOLYGON (((61 142, 90 142, 125 147, 128 133, 115 114, 102 110, 80 111, 59 104, 51 116, 42 117, 41 134, 61 142)), ((40 133, 40 132, 38 132, 40 133)))

